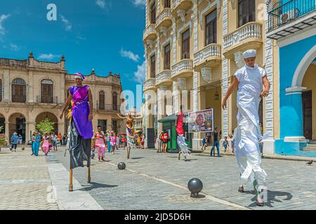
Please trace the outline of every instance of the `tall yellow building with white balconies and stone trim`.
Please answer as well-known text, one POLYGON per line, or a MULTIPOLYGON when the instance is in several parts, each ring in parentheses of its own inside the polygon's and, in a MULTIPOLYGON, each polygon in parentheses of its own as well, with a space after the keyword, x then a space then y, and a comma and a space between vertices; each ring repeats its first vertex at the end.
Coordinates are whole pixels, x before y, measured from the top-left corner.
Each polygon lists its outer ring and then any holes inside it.
MULTIPOLYGON (((222 139, 228 137, 237 126, 237 91, 228 109, 220 104, 232 76, 244 66, 242 52, 256 49, 256 62, 271 83, 259 113, 270 135, 265 152, 273 154, 279 134, 277 46, 265 37, 265 1, 148 0, 145 20, 145 126, 160 133, 163 126, 157 120, 178 113, 184 104, 185 112, 213 109, 214 127, 221 130, 222 139)), ((193 149, 202 147, 204 135, 190 136, 193 149)))

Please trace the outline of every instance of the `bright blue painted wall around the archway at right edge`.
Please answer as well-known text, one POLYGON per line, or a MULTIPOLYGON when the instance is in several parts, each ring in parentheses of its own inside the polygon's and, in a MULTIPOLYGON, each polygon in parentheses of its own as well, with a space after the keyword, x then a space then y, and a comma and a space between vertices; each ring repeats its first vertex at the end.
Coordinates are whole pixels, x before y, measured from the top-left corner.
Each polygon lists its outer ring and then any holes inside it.
POLYGON ((303 152, 305 143, 287 143, 284 137, 303 136, 303 109, 301 94, 285 95, 291 87, 296 67, 316 43, 316 35, 279 48, 279 116, 280 139, 275 141, 275 153, 315 156, 316 152, 303 152))

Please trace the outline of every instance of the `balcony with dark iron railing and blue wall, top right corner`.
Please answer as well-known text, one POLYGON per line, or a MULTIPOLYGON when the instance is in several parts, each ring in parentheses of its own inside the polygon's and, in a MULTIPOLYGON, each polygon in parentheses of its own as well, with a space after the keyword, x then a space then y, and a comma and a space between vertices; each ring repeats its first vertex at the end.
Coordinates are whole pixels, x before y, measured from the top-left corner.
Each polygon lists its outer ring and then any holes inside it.
POLYGON ((282 38, 316 24, 315 0, 277 1, 267 7, 269 38, 282 38))

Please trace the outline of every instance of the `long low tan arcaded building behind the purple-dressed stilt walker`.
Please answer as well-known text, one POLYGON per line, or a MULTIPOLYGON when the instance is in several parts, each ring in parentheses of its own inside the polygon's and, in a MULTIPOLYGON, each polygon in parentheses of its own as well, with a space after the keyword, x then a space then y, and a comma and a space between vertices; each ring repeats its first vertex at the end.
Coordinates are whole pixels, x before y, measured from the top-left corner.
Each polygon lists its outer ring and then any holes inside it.
MULTIPOLYGON (((110 73, 97 76, 94 71, 86 76, 84 84, 93 94, 93 129, 124 132, 124 124, 117 113, 121 106, 121 80, 110 73)), ((25 60, 0 58, 0 126, 6 139, 18 132, 28 141, 35 124, 49 118, 55 123, 55 132, 67 134, 65 118, 59 114, 65 104, 67 90, 74 85, 74 75, 65 69, 65 57, 60 62, 41 62, 32 52, 25 60)))

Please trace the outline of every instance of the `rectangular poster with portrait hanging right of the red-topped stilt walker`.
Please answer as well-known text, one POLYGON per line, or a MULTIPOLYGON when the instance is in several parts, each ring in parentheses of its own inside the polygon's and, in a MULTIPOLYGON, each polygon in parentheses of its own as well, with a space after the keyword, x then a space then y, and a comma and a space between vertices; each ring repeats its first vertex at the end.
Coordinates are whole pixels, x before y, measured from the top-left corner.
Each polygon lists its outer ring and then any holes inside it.
POLYGON ((214 131, 214 114, 213 109, 196 111, 189 113, 189 132, 213 132, 214 131))

